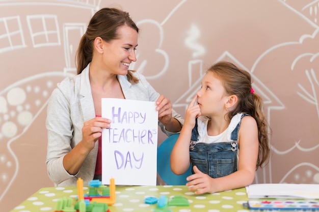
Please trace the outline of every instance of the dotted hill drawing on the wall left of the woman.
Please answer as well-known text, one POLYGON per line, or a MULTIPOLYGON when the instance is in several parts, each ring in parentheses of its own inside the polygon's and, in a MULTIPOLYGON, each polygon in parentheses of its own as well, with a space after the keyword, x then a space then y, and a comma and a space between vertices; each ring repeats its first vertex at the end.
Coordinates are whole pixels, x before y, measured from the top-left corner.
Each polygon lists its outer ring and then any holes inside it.
POLYGON ((67 75, 51 72, 30 76, 0 92, 0 200, 19 171, 19 161, 11 144, 28 130, 46 107, 48 97, 55 88, 50 80, 54 76, 63 78, 67 75))

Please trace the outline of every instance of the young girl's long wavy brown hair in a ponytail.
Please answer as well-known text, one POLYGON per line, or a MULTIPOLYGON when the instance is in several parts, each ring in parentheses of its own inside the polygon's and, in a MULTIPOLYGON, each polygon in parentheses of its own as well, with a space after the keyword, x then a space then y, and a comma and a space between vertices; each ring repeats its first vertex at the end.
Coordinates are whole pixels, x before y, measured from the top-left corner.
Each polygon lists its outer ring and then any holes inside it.
POLYGON ((253 92, 249 72, 237 68, 234 64, 221 61, 212 65, 207 72, 213 72, 221 80, 228 95, 236 95, 238 102, 234 110, 229 111, 229 120, 237 113, 247 113, 257 122, 259 151, 256 169, 269 162, 269 135, 271 129, 263 113, 263 103, 260 96, 253 92))

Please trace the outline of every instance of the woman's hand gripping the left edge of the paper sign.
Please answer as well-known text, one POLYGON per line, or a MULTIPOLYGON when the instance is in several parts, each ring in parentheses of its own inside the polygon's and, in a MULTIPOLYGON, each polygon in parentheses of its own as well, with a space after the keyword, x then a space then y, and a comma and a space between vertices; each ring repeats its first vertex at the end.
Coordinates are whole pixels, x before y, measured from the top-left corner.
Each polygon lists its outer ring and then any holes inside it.
POLYGON ((95 142, 102 135, 103 128, 110 128, 111 120, 102 117, 95 117, 84 123, 82 128, 82 145, 88 150, 92 150, 95 142))

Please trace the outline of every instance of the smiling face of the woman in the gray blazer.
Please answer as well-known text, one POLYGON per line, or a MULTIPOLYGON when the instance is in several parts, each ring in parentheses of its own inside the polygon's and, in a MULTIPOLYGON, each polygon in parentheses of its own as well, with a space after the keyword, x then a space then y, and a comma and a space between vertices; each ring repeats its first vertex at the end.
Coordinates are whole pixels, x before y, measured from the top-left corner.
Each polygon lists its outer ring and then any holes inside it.
POLYGON ((117 31, 119 39, 103 42, 103 66, 110 73, 126 75, 129 64, 136 61, 138 33, 126 25, 117 31))

